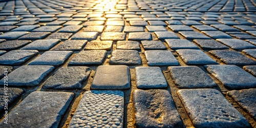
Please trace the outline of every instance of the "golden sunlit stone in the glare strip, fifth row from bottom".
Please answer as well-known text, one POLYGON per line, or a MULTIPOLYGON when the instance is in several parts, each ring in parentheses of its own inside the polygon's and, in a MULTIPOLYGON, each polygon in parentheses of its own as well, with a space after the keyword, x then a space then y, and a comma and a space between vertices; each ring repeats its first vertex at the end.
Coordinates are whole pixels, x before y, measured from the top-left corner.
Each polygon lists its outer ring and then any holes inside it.
POLYGON ((126 33, 123 32, 103 32, 101 33, 101 40, 125 40, 126 33))

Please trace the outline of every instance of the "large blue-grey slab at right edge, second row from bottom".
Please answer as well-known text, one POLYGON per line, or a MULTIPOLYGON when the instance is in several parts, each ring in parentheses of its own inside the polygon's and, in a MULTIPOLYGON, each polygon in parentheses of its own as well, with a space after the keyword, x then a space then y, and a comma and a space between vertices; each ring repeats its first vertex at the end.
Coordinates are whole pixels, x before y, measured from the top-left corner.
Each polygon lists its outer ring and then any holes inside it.
POLYGON ((205 68, 226 88, 238 90, 256 87, 256 78, 238 66, 207 65, 205 68))

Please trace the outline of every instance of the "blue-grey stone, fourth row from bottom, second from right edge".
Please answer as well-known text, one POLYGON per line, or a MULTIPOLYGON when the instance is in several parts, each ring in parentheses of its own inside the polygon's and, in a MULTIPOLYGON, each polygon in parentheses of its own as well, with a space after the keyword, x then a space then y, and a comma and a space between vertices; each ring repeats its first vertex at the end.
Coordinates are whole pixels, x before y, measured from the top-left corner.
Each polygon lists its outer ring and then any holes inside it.
POLYGON ((227 46, 212 39, 194 39, 193 41, 204 50, 228 49, 227 46))

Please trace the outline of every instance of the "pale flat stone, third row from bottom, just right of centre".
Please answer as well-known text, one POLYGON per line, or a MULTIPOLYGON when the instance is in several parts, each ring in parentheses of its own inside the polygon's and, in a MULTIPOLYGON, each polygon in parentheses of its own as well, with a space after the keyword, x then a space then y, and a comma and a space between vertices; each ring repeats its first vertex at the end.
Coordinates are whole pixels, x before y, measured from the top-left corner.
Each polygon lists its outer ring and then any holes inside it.
POLYGON ((168 50, 148 50, 145 51, 148 66, 177 66, 178 60, 172 52, 168 50))

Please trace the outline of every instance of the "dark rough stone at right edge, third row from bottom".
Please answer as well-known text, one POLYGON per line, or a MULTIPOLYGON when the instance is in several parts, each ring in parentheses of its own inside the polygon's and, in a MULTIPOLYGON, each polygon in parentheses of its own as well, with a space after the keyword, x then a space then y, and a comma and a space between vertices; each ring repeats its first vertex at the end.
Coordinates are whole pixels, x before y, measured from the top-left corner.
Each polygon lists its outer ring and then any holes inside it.
POLYGON ((243 54, 237 51, 212 50, 212 51, 209 51, 209 53, 219 58, 221 61, 223 61, 227 65, 237 65, 237 66, 256 65, 256 61, 244 56, 243 54))

